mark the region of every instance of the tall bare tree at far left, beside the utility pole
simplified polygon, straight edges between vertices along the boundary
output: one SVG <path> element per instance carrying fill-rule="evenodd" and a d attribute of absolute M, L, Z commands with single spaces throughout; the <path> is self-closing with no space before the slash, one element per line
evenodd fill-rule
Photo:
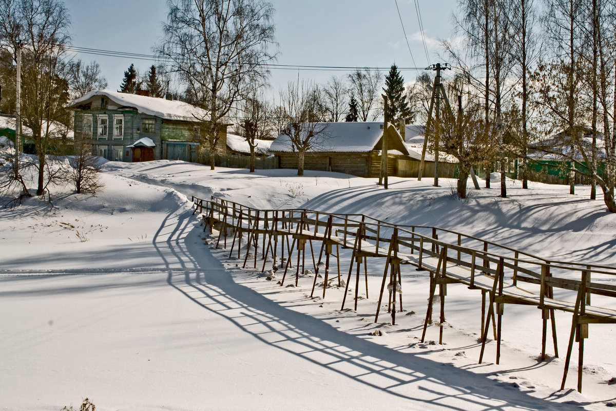
<path fill-rule="evenodd" d="M 50 154 L 66 141 L 69 123 L 65 110 L 68 100 L 67 46 L 70 17 L 57 0 L 1 0 L 0 41 L 17 60 L 22 49 L 22 120 L 31 129 L 38 161 L 36 195 L 43 195 L 58 176 L 58 168 L 48 163 Z M 23 187 L 25 189 L 25 187 Z"/>

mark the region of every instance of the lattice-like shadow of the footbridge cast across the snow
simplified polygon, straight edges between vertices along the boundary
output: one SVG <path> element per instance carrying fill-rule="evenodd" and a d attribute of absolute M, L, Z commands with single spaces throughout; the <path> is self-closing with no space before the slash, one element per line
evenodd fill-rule
<path fill-rule="evenodd" d="M 198 228 L 193 230 L 198 231 Z M 207 266 L 203 268 L 214 268 L 213 256 L 190 237 L 193 236 L 186 237 L 182 253 L 191 255 L 196 264 L 203 260 Z M 415 402 L 417 407 L 578 409 L 574 405 L 529 396 L 487 375 L 439 364 L 341 332 L 322 320 L 283 307 L 236 283 L 220 262 L 216 265 L 220 272 L 198 269 L 169 272 L 168 283 L 195 304 L 221 315 L 265 344 L 371 388 Z"/>

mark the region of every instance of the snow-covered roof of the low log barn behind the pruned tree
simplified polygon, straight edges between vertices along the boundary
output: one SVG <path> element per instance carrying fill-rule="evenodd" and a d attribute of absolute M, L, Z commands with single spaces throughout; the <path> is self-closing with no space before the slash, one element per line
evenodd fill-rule
<path fill-rule="evenodd" d="M 383 123 L 380 122 L 343 122 L 343 123 L 312 123 L 317 129 L 323 129 L 319 144 L 312 152 L 342 152 L 366 153 L 375 150 L 383 137 Z M 390 124 L 390 130 L 395 130 Z M 399 150 L 407 154 L 407 148 L 402 143 L 402 137 L 395 131 L 389 133 L 390 141 L 394 142 L 390 150 Z M 391 144 L 391 143 L 390 143 Z M 380 147 L 378 147 L 380 149 Z M 272 142 L 274 152 L 292 152 L 291 140 L 285 134 L 280 134 Z"/>

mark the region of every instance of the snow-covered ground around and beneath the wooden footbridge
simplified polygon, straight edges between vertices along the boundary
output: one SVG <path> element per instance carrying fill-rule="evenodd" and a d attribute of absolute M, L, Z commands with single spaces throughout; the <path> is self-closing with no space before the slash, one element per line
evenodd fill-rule
<path fill-rule="evenodd" d="M 449 286 L 444 345 L 419 343 L 425 272 L 403 268 L 397 325 L 381 311 L 382 262 L 369 298 L 339 311 L 344 288 L 310 298 L 314 277 L 280 287 L 213 248 L 190 195 L 259 208 L 306 207 L 434 225 L 550 259 L 616 262 L 616 216 L 588 187 L 510 181 L 463 203 L 455 182 L 247 170 L 181 161 L 105 165 L 96 197 L 55 189 L 0 210 L 0 409 L 59 410 L 89 397 L 97 410 L 603 409 L 616 398 L 613 325 L 591 325 L 583 394 L 577 369 L 559 391 L 570 315 L 556 317 L 561 358 L 538 362 L 541 315 L 506 306 L 500 365 L 480 344 L 480 293 Z M 241 264 L 240 264 L 241 266 Z M 349 255 L 343 253 L 346 273 Z M 351 284 L 355 287 L 354 283 Z M 365 288 L 360 283 L 360 295 Z M 349 301 L 347 299 L 347 301 Z M 352 302 L 352 301 L 351 301 Z M 405 314 L 405 315 L 403 315 Z M 370 335 L 375 330 L 382 336 Z M 551 350 L 551 351 L 550 351 Z M 553 348 L 548 345 L 548 352 Z M 609 354 L 606 354 L 609 353 Z M 573 350 L 577 364 L 577 351 Z M 611 382 L 610 382 L 611 381 Z"/>

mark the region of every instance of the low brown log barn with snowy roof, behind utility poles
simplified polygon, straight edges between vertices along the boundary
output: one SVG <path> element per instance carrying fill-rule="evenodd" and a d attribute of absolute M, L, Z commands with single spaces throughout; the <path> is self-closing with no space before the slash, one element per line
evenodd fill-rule
<path fill-rule="evenodd" d="M 358 177 L 378 177 L 381 170 L 383 123 L 318 123 L 320 141 L 304 157 L 304 169 L 333 171 Z M 388 175 L 397 176 L 397 159 L 409 152 L 395 129 L 387 132 Z M 270 147 L 279 168 L 298 168 L 298 153 L 280 134 Z"/>

